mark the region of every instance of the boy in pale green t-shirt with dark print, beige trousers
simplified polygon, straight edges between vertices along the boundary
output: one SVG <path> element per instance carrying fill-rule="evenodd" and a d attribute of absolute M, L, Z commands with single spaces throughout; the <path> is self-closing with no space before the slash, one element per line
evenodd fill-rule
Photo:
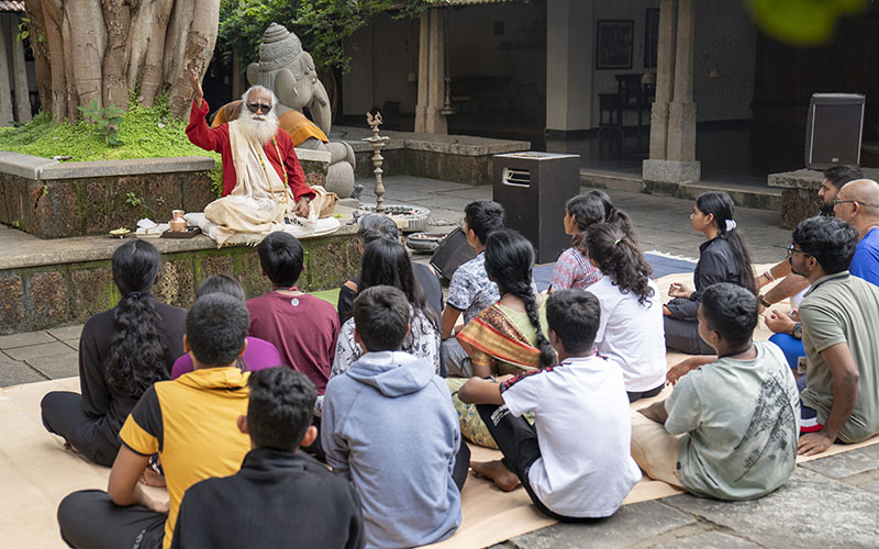
<path fill-rule="evenodd" d="M 757 299 L 721 282 L 699 307 L 699 335 L 717 351 L 671 395 L 632 413 L 632 456 L 647 475 L 701 495 L 750 500 L 797 464 L 800 399 L 785 355 L 752 341 Z"/>

